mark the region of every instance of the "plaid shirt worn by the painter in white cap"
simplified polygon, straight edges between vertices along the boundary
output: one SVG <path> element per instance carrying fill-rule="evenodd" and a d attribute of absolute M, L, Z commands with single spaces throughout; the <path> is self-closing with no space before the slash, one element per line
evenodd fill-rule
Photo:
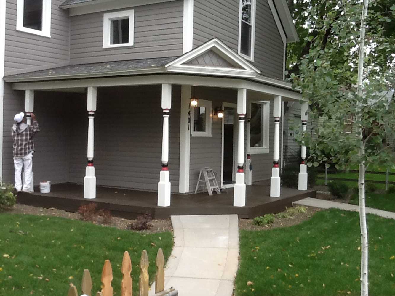
<path fill-rule="evenodd" d="M 25 155 L 28 155 L 30 152 L 34 152 L 33 136 L 35 133 L 40 131 L 40 128 L 38 127 L 38 122 L 33 121 L 32 126 L 28 126 L 20 133 L 17 133 L 14 130 L 15 126 L 17 125 L 14 124 L 14 126 L 11 129 L 11 136 L 12 139 L 14 140 L 14 150 L 13 150 L 14 157 L 23 157 Z"/>

